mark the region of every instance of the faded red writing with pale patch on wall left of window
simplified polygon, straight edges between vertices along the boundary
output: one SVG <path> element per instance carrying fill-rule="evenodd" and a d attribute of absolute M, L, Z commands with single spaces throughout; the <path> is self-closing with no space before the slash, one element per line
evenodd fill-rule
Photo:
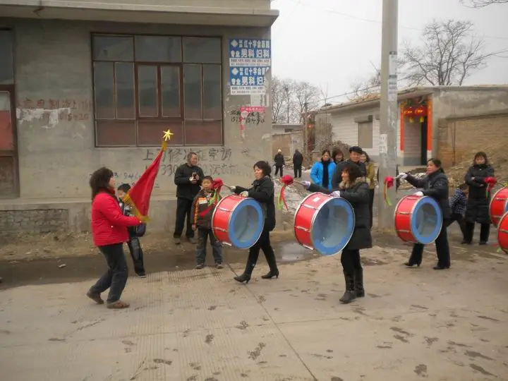
<path fill-rule="evenodd" d="M 88 121 L 92 119 L 92 105 L 88 100 L 79 99 L 25 99 L 18 100 L 16 118 L 20 122 L 37 120 L 41 128 L 54 128 L 67 121 Z"/>

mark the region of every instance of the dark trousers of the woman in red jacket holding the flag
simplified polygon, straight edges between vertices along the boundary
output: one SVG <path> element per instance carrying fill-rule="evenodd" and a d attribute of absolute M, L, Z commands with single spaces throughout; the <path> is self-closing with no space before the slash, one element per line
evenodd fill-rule
<path fill-rule="evenodd" d="M 123 243 L 99 246 L 99 250 L 104 255 L 104 258 L 106 258 L 108 270 L 90 290 L 101 294 L 109 289 L 107 303 L 114 303 L 119 301 L 128 277 L 127 262 L 123 254 Z"/>

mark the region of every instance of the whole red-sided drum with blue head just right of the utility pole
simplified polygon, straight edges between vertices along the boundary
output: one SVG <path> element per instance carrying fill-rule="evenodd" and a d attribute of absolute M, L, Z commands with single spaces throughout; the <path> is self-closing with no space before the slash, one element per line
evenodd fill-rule
<path fill-rule="evenodd" d="M 443 224 L 442 210 L 431 197 L 406 195 L 395 207 L 395 230 L 404 242 L 433 243 Z"/>

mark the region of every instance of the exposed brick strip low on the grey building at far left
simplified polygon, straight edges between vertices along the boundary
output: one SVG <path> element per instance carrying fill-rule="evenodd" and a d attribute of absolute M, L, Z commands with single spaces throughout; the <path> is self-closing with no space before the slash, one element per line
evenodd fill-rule
<path fill-rule="evenodd" d="M 68 210 L 1 210 L 0 231 L 7 234 L 68 231 Z"/>

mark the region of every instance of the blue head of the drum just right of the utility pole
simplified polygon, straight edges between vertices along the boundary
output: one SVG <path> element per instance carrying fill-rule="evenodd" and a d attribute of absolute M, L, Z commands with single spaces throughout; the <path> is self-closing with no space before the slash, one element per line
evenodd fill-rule
<path fill-rule="evenodd" d="M 418 243 L 428 245 L 439 236 L 442 227 L 442 211 L 431 197 L 419 200 L 411 214 L 411 233 Z"/>

